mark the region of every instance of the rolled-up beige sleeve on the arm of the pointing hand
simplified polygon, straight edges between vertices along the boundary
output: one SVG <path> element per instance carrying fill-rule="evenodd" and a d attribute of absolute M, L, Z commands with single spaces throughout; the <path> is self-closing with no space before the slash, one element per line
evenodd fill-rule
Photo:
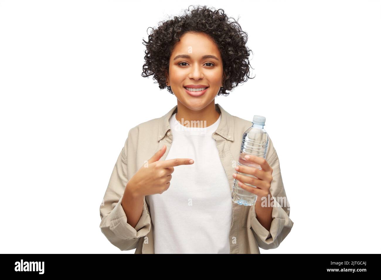
<path fill-rule="evenodd" d="M 130 137 L 129 132 L 129 137 Z M 122 197 L 128 181 L 127 151 L 128 138 L 120 152 L 102 204 L 99 208 L 101 223 L 99 227 L 110 243 L 121 251 L 135 249 L 139 238 L 146 236 L 151 229 L 151 219 L 144 200 L 142 215 L 135 227 L 127 222 L 127 216 L 122 207 Z"/>

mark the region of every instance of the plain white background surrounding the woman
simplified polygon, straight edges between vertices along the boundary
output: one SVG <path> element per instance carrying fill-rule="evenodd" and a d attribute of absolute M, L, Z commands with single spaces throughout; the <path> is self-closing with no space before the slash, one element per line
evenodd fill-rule
<path fill-rule="evenodd" d="M 261 253 L 380 253 L 380 1 L 0 1 L 2 253 L 120 251 L 99 206 L 128 131 L 177 104 L 141 77 L 149 27 L 189 5 L 248 32 L 252 75 L 215 103 L 265 129 L 290 234 Z"/>

